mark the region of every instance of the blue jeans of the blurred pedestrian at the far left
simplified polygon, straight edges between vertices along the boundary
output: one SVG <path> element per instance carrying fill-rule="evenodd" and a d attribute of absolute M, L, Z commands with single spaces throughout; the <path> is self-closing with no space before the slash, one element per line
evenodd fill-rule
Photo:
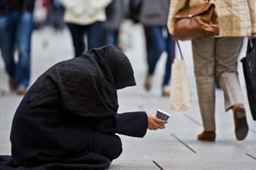
<path fill-rule="evenodd" d="M 0 49 L 5 70 L 15 79 L 15 87 L 28 87 L 30 81 L 30 44 L 34 27 L 33 14 L 13 11 L 0 15 Z M 18 61 L 14 60 L 14 46 L 18 48 Z"/>

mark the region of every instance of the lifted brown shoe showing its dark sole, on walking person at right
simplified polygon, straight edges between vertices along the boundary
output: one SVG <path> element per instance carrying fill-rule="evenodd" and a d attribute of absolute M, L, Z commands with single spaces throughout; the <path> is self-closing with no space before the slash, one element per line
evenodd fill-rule
<path fill-rule="evenodd" d="M 237 103 L 232 106 L 232 111 L 235 123 L 235 137 L 237 140 L 244 140 L 248 134 L 245 107 L 242 103 Z"/>

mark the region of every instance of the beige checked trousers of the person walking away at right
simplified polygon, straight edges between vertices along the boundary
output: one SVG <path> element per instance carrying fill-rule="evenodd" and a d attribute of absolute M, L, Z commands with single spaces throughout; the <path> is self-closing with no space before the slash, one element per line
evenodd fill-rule
<path fill-rule="evenodd" d="M 204 131 L 215 131 L 215 80 L 224 92 L 225 108 L 244 103 L 238 80 L 238 54 L 243 37 L 192 40 L 194 74 Z"/>

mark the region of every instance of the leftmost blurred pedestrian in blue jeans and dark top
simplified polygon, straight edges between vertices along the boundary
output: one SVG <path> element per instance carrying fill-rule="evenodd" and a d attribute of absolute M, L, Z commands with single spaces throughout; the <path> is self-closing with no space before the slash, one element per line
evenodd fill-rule
<path fill-rule="evenodd" d="M 0 0 L 0 49 L 10 90 L 24 94 L 30 83 L 30 49 L 35 0 Z M 18 61 L 14 59 L 18 51 Z"/>

